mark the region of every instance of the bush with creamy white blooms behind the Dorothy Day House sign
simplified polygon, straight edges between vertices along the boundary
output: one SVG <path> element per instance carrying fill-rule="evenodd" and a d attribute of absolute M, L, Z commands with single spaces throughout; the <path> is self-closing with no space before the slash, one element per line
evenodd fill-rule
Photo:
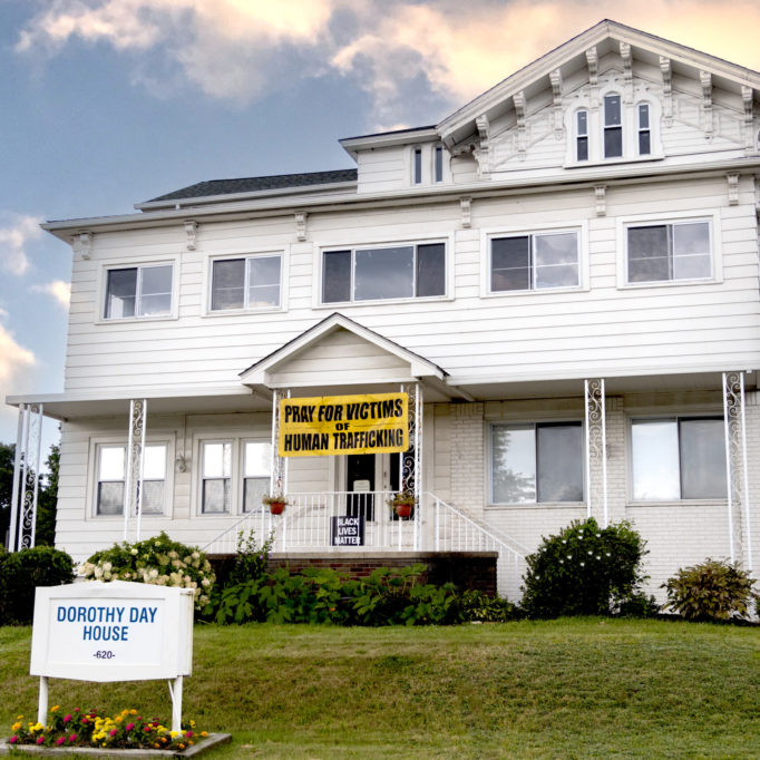
<path fill-rule="evenodd" d="M 206 555 L 195 546 L 172 540 L 165 533 L 96 552 L 79 566 L 89 581 L 131 581 L 156 586 L 192 588 L 195 606 L 203 610 L 216 579 Z"/>

